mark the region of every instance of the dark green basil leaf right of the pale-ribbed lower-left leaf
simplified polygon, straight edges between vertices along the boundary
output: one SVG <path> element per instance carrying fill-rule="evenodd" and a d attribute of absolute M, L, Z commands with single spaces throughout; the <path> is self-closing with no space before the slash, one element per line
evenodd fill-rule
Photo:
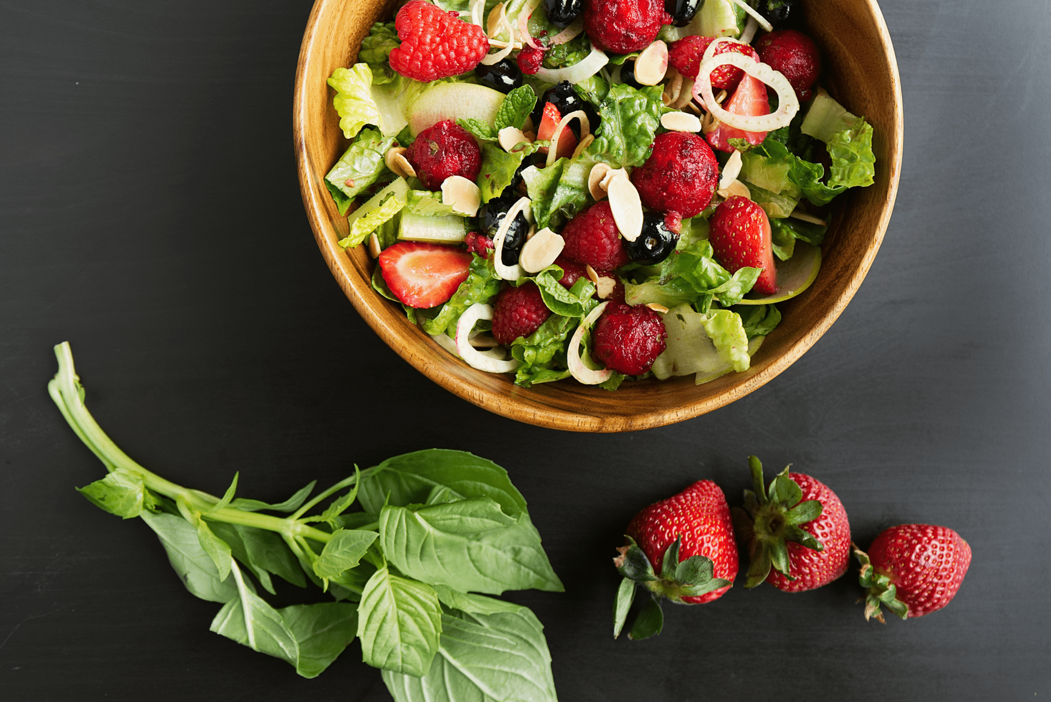
<path fill-rule="evenodd" d="M 295 604 L 277 613 L 298 644 L 295 671 L 304 678 L 316 678 L 324 673 L 357 634 L 354 604 Z"/>

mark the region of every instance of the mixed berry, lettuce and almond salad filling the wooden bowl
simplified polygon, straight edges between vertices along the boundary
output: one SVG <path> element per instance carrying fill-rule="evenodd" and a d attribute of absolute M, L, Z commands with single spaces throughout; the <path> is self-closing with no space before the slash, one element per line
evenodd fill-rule
<path fill-rule="evenodd" d="M 873 129 L 786 0 L 410 0 L 328 84 L 374 294 L 522 387 L 749 368 Z"/>

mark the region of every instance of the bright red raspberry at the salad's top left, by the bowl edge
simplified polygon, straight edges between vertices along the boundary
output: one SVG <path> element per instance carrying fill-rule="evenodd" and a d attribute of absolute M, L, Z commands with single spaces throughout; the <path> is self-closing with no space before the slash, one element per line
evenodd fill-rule
<path fill-rule="evenodd" d="M 401 7 L 394 27 L 401 45 L 391 52 L 391 67 L 425 83 L 472 71 L 489 53 L 489 39 L 480 26 L 427 0 L 412 0 Z"/>

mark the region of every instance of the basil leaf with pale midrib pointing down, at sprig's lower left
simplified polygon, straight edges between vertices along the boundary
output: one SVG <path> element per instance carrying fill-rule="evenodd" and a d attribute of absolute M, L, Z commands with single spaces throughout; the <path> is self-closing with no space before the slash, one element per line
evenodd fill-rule
<path fill-rule="evenodd" d="M 281 614 L 246 586 L 236 563 L 232 564 L 232 580 L 238 583 L 238 597 L 219 610 L 210 630 L 295 665 L 300 645 Z"/>

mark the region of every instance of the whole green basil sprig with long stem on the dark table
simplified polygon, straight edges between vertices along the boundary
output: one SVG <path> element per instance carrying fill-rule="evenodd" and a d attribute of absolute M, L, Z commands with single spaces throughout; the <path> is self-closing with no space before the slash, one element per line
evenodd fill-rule
<path fill-rule="evenodd" d="M 356 637 L 399 702 L 556 700 L 540 622 L 527 607 L 478 595 L 563 589 L 507 470 L 431 449 L 355 466 L 312 498 L 313 482 L 280 504 L 235 498 L 236 475 L 217 498 L 122 452 L 84 406 L 69 344 L 55 352 L 50 396 L 109 472 L 80 493 L 157 533 L 186 588 L 223 604 L 212 631 L 306 678 Z M 355 502 L 362 510 L 349 512 Z M 335 601 L 274 608 L 259 591 L 275 594 L 272 576 L 310 581 Z"/>

